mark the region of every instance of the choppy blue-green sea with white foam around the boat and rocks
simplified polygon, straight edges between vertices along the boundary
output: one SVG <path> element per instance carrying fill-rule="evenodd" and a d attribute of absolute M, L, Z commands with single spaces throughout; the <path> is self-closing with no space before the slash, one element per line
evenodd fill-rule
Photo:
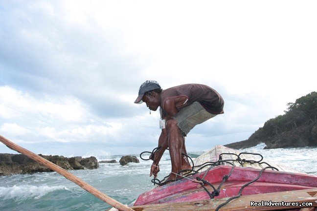
<path fill-rule="evenodd" d="M 317 175 L 317 148 L 263 149 L 264 144 L 241 149 L 244 152 L 260 153 L 264 159 L 283 164 L 309 174 Z M 204 151 L 188 153 L 192 158 Z M 131 204 L 139 194 L 151 190 L 151 161 L 127 166 L 99 164 L 98 169 L 70 170 L 72 174 L 104 192 L 122 204 Z M 122 155 L 95 155 L 98 161 L 119 161 Z M 170 157 L 166 152 L 160 161 L 158 179 L 171 170 Z M 86 190 L 70 182 L 56 172 L 0 176 L 0 211 L 105 211 L 108 204 Z"/>

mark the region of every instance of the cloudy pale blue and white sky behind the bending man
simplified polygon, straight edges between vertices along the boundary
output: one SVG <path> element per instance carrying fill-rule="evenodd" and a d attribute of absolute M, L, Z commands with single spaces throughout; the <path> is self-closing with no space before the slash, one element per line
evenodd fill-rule
<path fill-rule="evenodd" d="M 187 151 L 246 140 L 317 91 L 316 10 L 309 0 L 0 0 L 0 134 L 42 154 L 152 150 L 158 111 L 133 102 L 156 80 L 225 99 Z"/>

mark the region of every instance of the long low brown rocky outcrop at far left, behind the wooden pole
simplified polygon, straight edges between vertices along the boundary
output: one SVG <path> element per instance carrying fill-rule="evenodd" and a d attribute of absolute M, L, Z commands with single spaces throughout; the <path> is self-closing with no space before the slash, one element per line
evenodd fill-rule
<path fill-rule="evenodd" d="M 46 160 L 62 167 L 66 170 L 76 169 L 97 169 L 98 161 L 95 157 L 82 158 L 71 157 L 67 158 L 58 155 L 42 155 Z M 25 174 L 35 172 L 49 172 L 51 169 L 46 168 L 32 159 L 22 154 L 0 154 L 0 176 L 12 174 Z"/>

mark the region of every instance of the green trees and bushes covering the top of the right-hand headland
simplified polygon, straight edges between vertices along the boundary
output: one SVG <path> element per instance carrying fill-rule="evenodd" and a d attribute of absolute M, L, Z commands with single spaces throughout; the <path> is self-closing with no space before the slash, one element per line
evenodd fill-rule
<path fill-rule="evenodd" d="M 311 92 L 300 97 L 295 103 L 288 103 L 287 106 L 287 110 L 284 111 L 285 114 L 268 120 L 252 136 L 272 137 L 302 125 L 308 126 L 317 121 L 317 92 Z"/>

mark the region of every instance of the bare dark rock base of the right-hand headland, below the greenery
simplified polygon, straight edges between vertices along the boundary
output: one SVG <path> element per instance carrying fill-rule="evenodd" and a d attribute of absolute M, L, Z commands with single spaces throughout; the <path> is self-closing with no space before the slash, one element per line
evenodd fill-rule
<path fill-rule="evenodd" d="M 317 122 L 308 126 L 295 127 L 292 130 L 271 137 L 264 137 L 259 130 L 255 131 L 249 139 L 225 145 L 228 148 L 243 149 L 255 147 L 265 143 L 270 148 L 296 148 L 317 146 Z"/>

